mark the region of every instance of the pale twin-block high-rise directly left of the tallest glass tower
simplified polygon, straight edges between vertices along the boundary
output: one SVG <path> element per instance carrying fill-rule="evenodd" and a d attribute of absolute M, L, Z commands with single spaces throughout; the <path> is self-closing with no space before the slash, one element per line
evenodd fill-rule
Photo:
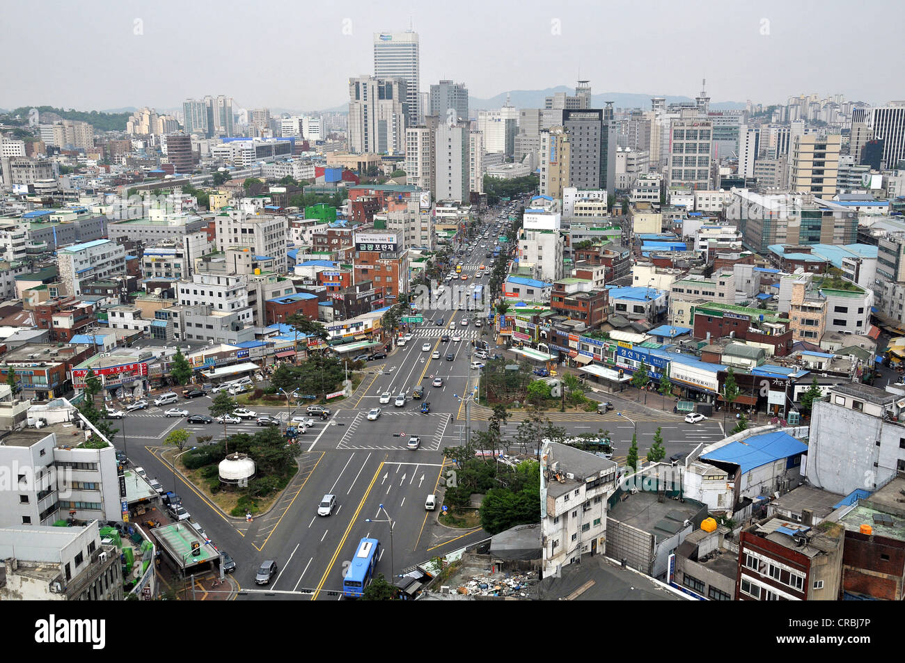
<path fill-rule="evenodd" d="M 408 113 L 401 79 L 348 81 L 348 148 L 356 154 L 402 154 Z"/>

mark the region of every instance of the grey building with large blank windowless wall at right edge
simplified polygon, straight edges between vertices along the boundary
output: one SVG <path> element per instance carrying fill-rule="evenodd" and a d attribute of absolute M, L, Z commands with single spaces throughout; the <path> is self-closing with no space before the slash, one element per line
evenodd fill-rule
<path fill-rule="evenodd" d="M 815 488 L 847 495 L 874 490 L 905 471 L 900 396 L 866 384 L 838 384 L 811 415 L 806 476 Z"/>

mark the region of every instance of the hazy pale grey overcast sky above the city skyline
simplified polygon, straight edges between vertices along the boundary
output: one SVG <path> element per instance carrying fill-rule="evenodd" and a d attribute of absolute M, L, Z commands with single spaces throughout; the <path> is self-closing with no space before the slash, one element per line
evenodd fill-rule
<path fill-rule="evenodd" d="M 556 5 L 556 6 L 553 6 Z M 574 86 L 597 92 L 785 102 L 842 93 L 905 99 L 905 3 L 875 0 L 3 0 L 0 108 L 235 106 L 326 109 L 373 73 L 373 33 L 421 39 L 421 90 L 473 97 Z M 233 107 L 235 108 L 235 107 Z"/>

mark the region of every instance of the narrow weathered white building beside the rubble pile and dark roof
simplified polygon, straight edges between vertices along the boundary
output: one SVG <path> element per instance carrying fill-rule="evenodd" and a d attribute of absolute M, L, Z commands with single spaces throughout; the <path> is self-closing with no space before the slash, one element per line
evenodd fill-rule
<path fill-rule="evenodd" d="M 616 485 L 617 463 L 566 444 L 540 451 L 540 526 L 544 575 L 605 551 L 607 497 Z"/>

